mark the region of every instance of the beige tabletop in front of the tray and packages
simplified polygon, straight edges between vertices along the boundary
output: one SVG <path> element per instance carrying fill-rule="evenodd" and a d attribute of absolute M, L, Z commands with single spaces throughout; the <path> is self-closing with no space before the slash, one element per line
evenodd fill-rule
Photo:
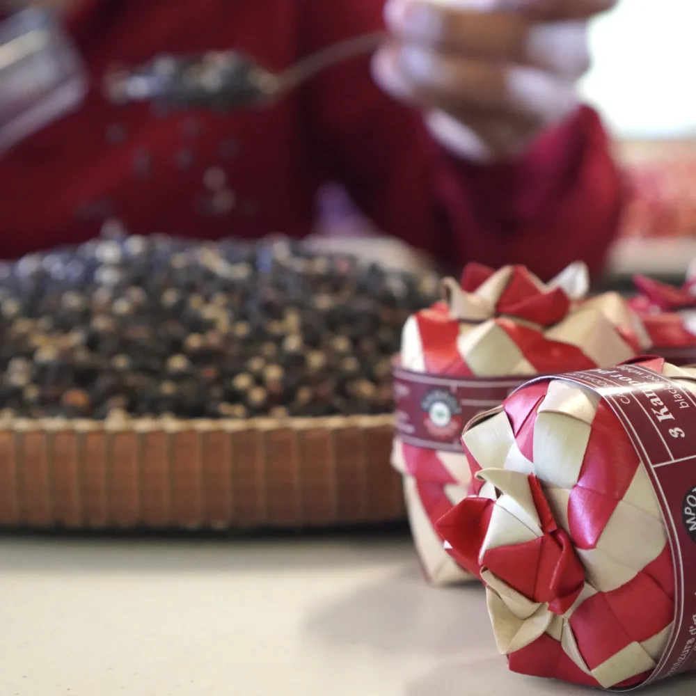
<path fill-rule="evenodd" d="M 0 696 L 590 693 L 509 674 L 480 588 L 426 587 L 405 537 L 0 537 Z"/>

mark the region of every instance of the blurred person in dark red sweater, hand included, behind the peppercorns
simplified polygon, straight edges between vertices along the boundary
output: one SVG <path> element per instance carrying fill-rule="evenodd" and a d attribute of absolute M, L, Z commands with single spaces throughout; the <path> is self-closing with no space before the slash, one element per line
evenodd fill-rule
<path fill-rule="evenodd" d="M 613 1 L 0 1 L 60 10 L 90 74 L 79 109 L 0 154 L 0 256 L 82 242 L 112 218 L 139 234 L 302 237 L 317 190 L 339 181 L 379 229 L 452 267 L 596 270 L 622 182 L 575 86 L 587 21 Z M 161 113 L 101 90 L 160 52 L 235 48 L 280 70 L 385 22 L 371 63 L 264 111 Z"/>

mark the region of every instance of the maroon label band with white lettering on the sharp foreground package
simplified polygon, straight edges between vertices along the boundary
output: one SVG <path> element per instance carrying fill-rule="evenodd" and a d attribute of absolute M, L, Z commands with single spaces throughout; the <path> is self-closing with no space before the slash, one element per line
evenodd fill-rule
<path fill-rule="evenodd" d="M 665 517 L 676 578 L 674 627 L 661 661 L 640 686 L 695 670 L 696 400 L 679 383 L 640 365 L 571 372 L 560 379 L 589 387 L 611 406 L 650 475 Z"/>

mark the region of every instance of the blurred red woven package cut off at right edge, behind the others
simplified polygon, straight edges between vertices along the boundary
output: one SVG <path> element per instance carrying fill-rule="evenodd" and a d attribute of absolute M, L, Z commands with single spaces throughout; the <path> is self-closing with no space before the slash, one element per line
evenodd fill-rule
<path fill-rule="evenodd" d="M 640 294 L 630 304 L 650 337 L 650 353 L 674 365 L 696 364 L 696 267 L 683 287 L 646 276 L 635 276 L 634 283 Z"/>

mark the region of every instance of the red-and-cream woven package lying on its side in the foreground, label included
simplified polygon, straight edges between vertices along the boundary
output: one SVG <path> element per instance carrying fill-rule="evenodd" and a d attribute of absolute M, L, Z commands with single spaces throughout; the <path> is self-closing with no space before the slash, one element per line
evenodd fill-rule
<path fill-rule="evenodd" d="M 696 668 L 696 369 L 539 378 L 473 420 L 438 521 L 514 672 L 632 688 Z"/>

